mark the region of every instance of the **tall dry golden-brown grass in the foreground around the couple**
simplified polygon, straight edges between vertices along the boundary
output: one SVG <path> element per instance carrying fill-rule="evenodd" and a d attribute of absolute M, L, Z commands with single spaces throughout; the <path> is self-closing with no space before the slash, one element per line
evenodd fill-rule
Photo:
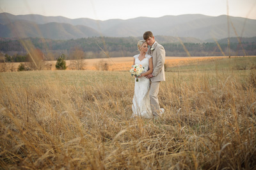
<path fill-rule="evenodd" d="M 255 168 L 255 70 L 188 70 L 166 72 L 158 120 L 131 118 L 128 71 L 1 73 L 0 166 Z"/>

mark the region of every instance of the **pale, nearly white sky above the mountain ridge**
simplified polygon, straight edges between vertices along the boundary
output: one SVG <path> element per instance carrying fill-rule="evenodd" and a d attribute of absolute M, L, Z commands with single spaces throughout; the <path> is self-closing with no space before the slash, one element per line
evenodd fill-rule
<path fill-rule="evenodd" d="M 228 5 L 227 5 L 228 4 Z M 228 8 L 227 8 L 228 7 Z M 227 10 L 228 9 L 228 10 Z M 163 17 L 164 15 L 227 15 L 256 19 L 255 0 L 0 0 L 0 13 L 39 14 L 96 20 Z"/>

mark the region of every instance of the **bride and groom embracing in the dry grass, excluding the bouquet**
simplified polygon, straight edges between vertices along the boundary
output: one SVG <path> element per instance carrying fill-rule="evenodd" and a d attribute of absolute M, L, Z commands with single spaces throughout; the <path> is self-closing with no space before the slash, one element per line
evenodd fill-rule
<path fill-rule="evenodd" d="M 159 106 L 158 92 L 160 82 L 165 81 L 165 50 L 156 42 L 151 31 L 145 32 L 143 39 L 137 45 L 140 54 L 135 55 L 133 61 L 133 65 L 141 65 L 144 70 L 135 81 L 132 116 L 158 118 L 164 112 Z"/>

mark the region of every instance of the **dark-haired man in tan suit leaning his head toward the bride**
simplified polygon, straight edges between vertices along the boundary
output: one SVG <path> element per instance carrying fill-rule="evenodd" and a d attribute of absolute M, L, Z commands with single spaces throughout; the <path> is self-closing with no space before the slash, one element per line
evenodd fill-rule
<path fill-rule="evenodd" d="M 150 45 L 150 48 L 147 51 L 147 54 L 152 56 L 153 60 L 153 72 L 146 77 L 150 79 L 150 104 L 152 109 L 152 114 L 154 118 L 161 116 L 164 112 L 163 108 L 159 106 L 158 92 L 161 81 L 165 81 L 164 74 L 164 61 L 165 61 L 165 50 L 162 45 L 156 42 L 155 37 L 151 31 L 147 31 L 143 35 L 144 40 Z"/>

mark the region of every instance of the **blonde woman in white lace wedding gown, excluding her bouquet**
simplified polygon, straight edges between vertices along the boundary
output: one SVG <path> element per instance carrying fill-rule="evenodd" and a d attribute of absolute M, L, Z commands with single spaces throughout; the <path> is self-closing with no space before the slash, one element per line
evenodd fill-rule
<path fill-rule="evenodd" d="M 140 54 L 133 56 L 133 65 L 142 65 L 144 67 L 144 71 L 141 73 L 139 81 L 135 81 L 134 97 L 132 99 L 132 116 L 152 118 L 149 100 L 150 80 L 145 77 L 153 72 L 152 56 L 146 54 L 148 44 L 145 40 L 140 40 L 137 47 Z"/>

